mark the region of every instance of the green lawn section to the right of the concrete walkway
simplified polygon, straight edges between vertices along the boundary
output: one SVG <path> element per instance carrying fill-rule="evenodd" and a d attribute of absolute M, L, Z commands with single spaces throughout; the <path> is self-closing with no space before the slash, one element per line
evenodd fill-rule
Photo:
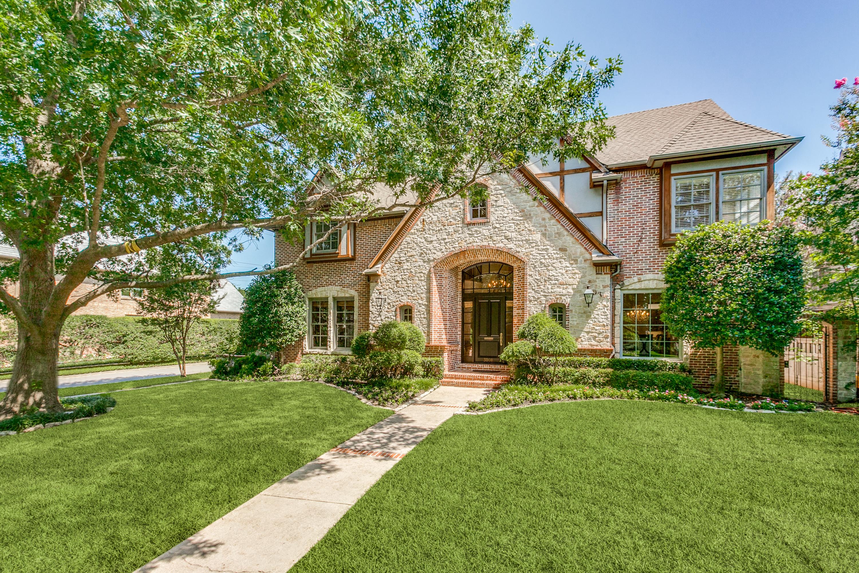
<path fill-rule="evenodd" d="M 454 416 L 289 573 L 855 571 L 859 417 L 594 400 Z"/>

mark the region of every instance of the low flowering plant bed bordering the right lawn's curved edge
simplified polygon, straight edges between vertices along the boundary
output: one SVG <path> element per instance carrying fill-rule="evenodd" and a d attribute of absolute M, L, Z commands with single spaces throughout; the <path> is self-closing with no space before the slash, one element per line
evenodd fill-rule
<path fill-rule="evenodd" d="M 637 390 L 583 385 L 523 386 L 509 384 L 497 392 L 490 393 L 484 399 L 469 402 L 468 411 L 490 411 L 520 405 L 583 399 L 637 399 L 702 405 L 734 411 L 742 411 L 746 408 L 754 410 L 812 411 L 815 406 L 810 402 L 796 402 L 795 400 L 775 401 L 770 399 L 758 400 L 751 405 L 746 405 L 745 402 L 733 397 L 712 399 L 696 395 L 695 393 L 678 392 L 675 390 Z"/>

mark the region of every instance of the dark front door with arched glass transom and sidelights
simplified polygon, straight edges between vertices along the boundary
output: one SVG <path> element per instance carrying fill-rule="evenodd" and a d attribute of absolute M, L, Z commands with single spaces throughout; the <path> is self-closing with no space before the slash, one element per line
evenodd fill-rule
<path fill-rule="evenodd" d="M 486 262 L 462 271 L 462 362 L 498 363 L 513 339 L 513 267 Z"/>

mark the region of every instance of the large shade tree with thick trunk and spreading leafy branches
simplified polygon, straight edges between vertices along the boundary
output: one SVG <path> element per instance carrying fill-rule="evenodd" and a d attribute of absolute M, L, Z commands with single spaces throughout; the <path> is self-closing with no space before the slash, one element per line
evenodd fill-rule
<path fill-rule="evenodd" d="M 0 302 L 20 335 L 4 416 L 60 408 L 60 328 L 96 297 L 295 265 L 219 273 L 229 231 L 297 241 L 381 210 L 379 183 L 393 209 L 431 204 L 612 136 L 597 97 L 619 59 L 511 29 L 507 0 L 5 5 L 0 234 L 20 261 Z M 146 253 L 168 246 L 207 265 L 153 277 Z"/>

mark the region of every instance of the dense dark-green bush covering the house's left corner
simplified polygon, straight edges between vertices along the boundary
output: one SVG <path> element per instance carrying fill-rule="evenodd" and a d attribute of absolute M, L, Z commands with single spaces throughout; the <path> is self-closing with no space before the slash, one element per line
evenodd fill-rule
<path fill-rule="evenodd" d="M 292 272 L 254 278 L 239 318 L 239 350 L 275 352 L 293 344 L 307 332 L 307 313 L 302 285 Z"/>

